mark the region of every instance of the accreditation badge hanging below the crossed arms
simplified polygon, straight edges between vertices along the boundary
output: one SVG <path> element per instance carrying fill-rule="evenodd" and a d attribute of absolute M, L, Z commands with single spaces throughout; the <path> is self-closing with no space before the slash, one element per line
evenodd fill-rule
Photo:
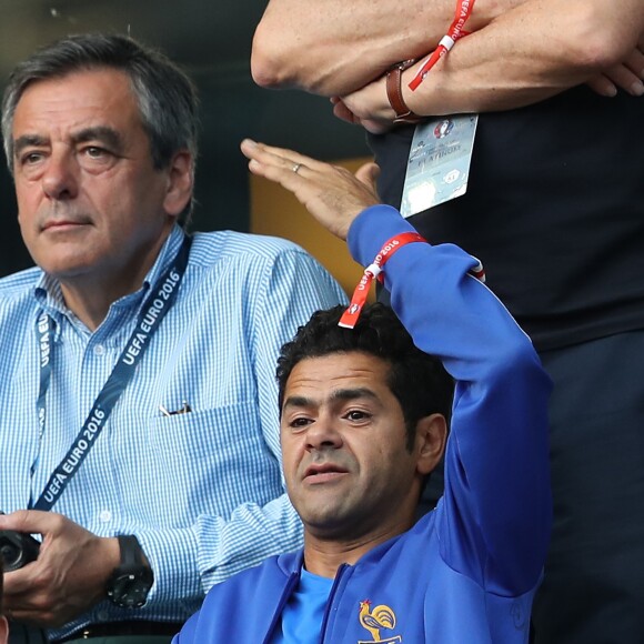
<path fill-rule="evenodd" d="M 401 213 L 412 217 L 467 190 L 479 114 L 453 114 L 416 125 Z"/>

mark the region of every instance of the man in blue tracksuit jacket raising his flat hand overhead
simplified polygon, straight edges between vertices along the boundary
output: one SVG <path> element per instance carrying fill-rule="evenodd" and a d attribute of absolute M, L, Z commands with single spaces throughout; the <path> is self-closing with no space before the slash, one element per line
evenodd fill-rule
<path fill-rule="evenodd" d="M 304 549 L 213 587 L 175 644 L 527 642 L 552 511 L 551 384 L 530 340 L 472 274 L 476 260 L 410 240 L 376 204 L 373 164 L 354 178 L 252 141 L 242 151 L 362 265 L 399 246 L 380 265 L 413 343 L 376 304 L 353 330 L 341 311 L 316 314 L 283 349 L 283 467 Z M 449 415 L 426 354 L 455 392 L 445 493 L 416 522 Z"/>

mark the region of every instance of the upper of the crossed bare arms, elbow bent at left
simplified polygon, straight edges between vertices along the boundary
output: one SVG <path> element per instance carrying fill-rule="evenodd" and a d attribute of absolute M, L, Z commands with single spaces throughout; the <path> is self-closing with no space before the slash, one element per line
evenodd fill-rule
<path fill-rule="evenodd" d="M 467 29 L 481 29 L 523 1 L 476 0 Z M 253 78 L 262 87 L 345 94 L 395 62 L 431 51 L 455 7 L 455 0 L 272 0 L 253 39 Z"/>

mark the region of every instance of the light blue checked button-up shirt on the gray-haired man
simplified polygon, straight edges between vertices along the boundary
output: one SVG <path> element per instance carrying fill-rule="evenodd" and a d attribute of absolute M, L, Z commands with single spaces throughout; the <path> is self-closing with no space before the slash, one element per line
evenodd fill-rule
<path fill-rule="evenodd" d="M 36 502 L 182 238 L 175 228 L 143 288 L 114 302 L 93 333 L 40 269 L 0 280 L 0 510 Z M 194 235 L 174 305 L 53 507 L 101 536 L 135 534 L 154 585 L 135 615 L 105 601 L 54 637 L 89 622 L 182 621 L 211 585 L 300 546 L 280 469 L 276 356 L 313 311 L 339 302 L 345 302 L 340 286 L 288 241 L 230 231 Z M 42 435 L 41 311 L 56 326 Z M 160 411 L 184 402 L 189 413 Z"/>

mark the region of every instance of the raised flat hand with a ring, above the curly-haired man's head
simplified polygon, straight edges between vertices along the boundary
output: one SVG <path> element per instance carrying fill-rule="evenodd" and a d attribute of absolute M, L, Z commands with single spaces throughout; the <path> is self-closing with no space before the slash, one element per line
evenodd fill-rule
<path fill-rule="evenodd" d="M 380 203 L 375 163 L 365 163 L 353 175 L 344 168 L 250 139 L 242 141 L 241 150 L 250 160 L 253 174 L 290 190 L 324 228 L 342 240 L 365 208 Z"/>

